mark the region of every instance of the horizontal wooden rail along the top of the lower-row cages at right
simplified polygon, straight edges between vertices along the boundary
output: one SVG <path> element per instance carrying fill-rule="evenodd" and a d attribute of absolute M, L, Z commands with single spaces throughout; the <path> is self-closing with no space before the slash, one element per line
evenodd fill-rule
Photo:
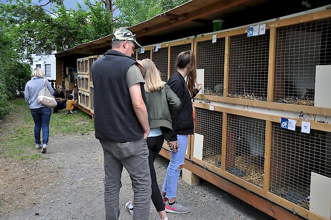
<path fill-rule="evenodd" d="M 194 102 L 193 105 L 195 107 L 209 109 L 209 105 L 207 105 L 207 104 Z M 264 113 L 251 112 L 251 111 L 247 111 L 247 110 L 234 109 L 234 108 L 222 107 L 222 106 L 217 106 L 217 105 L 214 105 L 214 111 L 226 112 L 226 113 L 230 113 L 230 114 L 234 114 L 234 115 L 240 115 L 240 116 L 245 116 L 245 117 L 250 117 L 250 118 L 267 120 L 267 121 L 272 121 L 272 122 L 277 122 L 277 123 L 280 123 L 281 119 L 282 119 L 281 116 L 277 116 L 277 115 L 269 115 L 269 114 L 264 114 Z M 302 120 L 298 120 L 296 118 L 289 118 L 289 119 L 297 120 L 296 126 L 301 127 Z M 311 121 L 311 129 L 331 132 L 331 124 Z"/>

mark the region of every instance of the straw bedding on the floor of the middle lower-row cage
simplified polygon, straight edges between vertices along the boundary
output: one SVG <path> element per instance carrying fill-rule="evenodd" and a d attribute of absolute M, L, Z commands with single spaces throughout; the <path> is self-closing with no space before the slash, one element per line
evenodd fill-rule
<path fill-rule="evenodd" d="M 253 155 L 237 156 L 235 159 L 235 167 L 244 172 L 244 175 L 241 176 L 242 179 L 263 187 L 264 172 L 256 163 L 252 162 L 254 160 Z"/>

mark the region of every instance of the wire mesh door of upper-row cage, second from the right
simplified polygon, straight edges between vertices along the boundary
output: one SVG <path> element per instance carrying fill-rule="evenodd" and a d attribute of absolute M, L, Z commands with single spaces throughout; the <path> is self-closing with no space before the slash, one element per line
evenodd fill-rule
<path fill-rule="evenodd" d="M 270 31 L 230 37 L 228 97 L 266 101 Z"/>

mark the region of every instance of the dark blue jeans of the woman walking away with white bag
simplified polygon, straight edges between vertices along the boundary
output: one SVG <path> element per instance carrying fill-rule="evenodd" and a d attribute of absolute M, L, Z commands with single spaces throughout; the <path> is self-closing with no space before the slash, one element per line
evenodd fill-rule
<path fill-rule="evenodd" d="M 49 119 L 52 113 L 49 107 L 41 107 L 30 109 L 32 118 L 35 122 L 35 140 L 36 144 L 41 144 L 40 142 L 40 130 L 43 129 L 43 144 L 48 143 L 49 136 Z"/>

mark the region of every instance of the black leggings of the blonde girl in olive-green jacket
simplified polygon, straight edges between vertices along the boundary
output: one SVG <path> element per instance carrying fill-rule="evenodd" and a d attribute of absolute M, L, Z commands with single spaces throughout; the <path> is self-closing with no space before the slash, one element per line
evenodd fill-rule
<path fill-rule="evenodd" d="M 164 210 L 164 204 L 156 180 L 154 160 L 158 156 L 158 153 L 160 152 L 162 145 L 163 145 L 163 135 L 147 138 L 147 146 L 149 149 L 148 162 L 149 162 L 149 169 L 151 171 L 151 180 L 152 180 L 152 202 L 156 208 L 156 211 L 158 212 Z"/>

